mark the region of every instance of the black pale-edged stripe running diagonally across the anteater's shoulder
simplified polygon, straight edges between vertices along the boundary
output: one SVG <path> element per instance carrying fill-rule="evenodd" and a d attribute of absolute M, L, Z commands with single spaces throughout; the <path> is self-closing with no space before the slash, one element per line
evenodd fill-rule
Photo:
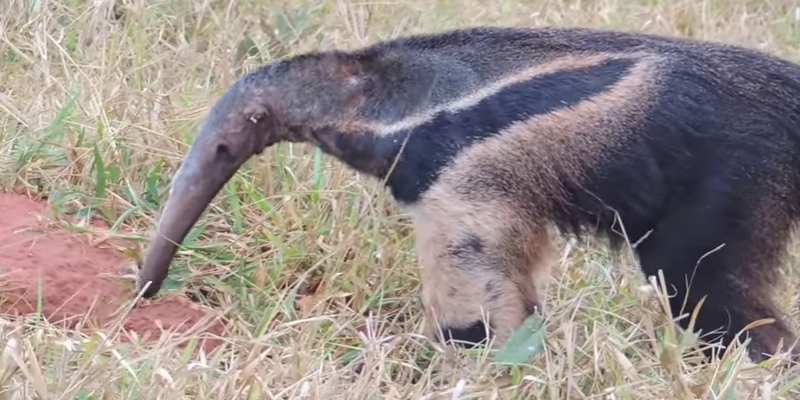
<path fill-rule="evenodd" d="M 386 178 L 402 149 L 387 185 L 397 201 L 411 204 L 462 150 L 501 134 L 514 123 L 602 93 L 622 79 L 635 62 L 609 59 L 586 68 L 540 75 L 509 85 L 472 107 L 442 111 L 428 122 L 392 135 L 326 132 L 320 139 L 328 137 L 320 142 L 323 150 L 351 167 L 381 179 Z"/>

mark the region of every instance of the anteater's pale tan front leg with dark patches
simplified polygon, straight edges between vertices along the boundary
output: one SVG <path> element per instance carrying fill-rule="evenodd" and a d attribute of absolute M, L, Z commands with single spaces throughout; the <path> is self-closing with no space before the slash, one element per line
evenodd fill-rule
<path fill-rule="evenodd" d="M 556 251 L 548 231 L 523 214 L 508 204 L 454 197 L 416 206 L 429 336 L 471 346 L 488 333 L 498 345 L 526 317 L 541 312 Z"/>

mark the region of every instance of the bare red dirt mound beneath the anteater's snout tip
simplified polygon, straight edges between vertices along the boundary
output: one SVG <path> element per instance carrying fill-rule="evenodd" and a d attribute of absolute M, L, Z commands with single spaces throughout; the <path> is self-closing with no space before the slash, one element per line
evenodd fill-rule
<path fill-rule="evenodd" d="M 111 246 L 93 245 L 89 235 L 54 228 L 46 213 L 43 201 L 0 192 L 0 314 L 34 313 L 41 293 L 43 316 L 51 323 L 111 327 L 134 296 L 132 282 L 114 279 L 130 274 L 124 270 L 128 260 Z M 184 296 L 168 296 L 140 302 L 122 328 L 157 340 L 160 329 L 197 333 L 193 327 L 205 314 Z M 215 323 L 207 332 L 221 335 L 222 326 Z M 209 338 L 203 346 L 218 344 Z"/>

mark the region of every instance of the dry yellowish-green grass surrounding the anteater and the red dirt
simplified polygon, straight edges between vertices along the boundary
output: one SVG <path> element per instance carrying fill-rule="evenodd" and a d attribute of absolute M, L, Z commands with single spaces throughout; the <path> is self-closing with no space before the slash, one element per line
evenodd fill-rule
<path fill-rule="evenodd" d="M 622 28 L 800 62 L 800 5 L 790 0 L 5 0 L 0 186 L 100 213 L 143 246 L 197 124 L 244 71 L 478 24 Z M 542 352 L 509 366 L 485 350 L 435 346 L 421 335 L 410 233 L 377 182 L 313 148 L 277 146 L 217 197 L 162 291 L 194 293 L 224 312 L 222 347 L 192 356 L 179 347 L 185 335 L 100 347 L 41 322 L 2 323 L 0 396 L 800 398 L 796 371 L 754 365 L 740 349 L 694 364 L 691 337 L 669 324 L 629 260 L 567 242 Z M 787 288 L 800 276 L 795 253 Z M 796 296 L 782 293 L 796 314 Z"/>

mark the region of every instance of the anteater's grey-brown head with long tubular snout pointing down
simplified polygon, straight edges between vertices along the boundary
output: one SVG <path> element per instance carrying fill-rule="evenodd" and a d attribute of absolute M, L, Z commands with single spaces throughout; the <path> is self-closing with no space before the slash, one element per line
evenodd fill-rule
<path fill-rule="evenodd" d="M 280 141 L 314 142 L 316 132 L 357 122 L 371 80 L 366 63 L 328 52 L 279 61 L 234 83 L 217 100 L 172 180 L 137 280 L 155 295 L 178 245 L 239 167 Z"/>

